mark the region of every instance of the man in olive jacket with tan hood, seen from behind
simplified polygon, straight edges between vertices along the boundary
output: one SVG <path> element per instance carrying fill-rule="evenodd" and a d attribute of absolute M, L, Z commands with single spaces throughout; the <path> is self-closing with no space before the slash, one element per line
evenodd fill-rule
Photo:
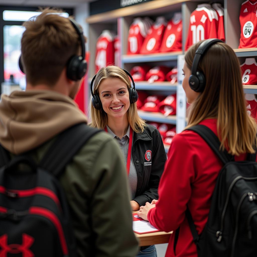
<path fill-rule="evenodd" d="M 11 156 L 33 149 L 38 163 L 60 132 L 87 123 L 73 101 L 85 73 L 78 57 L 84 40 L 73 22 L 59 14 L 45 9 L 24 23 L 21 61 L 26 91 L 2 95 L 0 103 L 0 144 Z M 60 182 L 78 256 L 136 255 L 126 168 L 111 136 L 92 136 L 66 166 Z"/>

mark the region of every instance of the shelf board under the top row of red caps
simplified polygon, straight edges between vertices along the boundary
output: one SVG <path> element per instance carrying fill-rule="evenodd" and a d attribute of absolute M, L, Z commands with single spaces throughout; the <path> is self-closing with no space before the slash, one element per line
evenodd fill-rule
<path fill-rule="evenodd" d="M 164 82 L 153 82 L 149 83 L 147 81 L 135 81 L 136 90 L 170 90 L 176 91 L 177 90 L 177 83 L 171 84 L 168 81 Z"/>

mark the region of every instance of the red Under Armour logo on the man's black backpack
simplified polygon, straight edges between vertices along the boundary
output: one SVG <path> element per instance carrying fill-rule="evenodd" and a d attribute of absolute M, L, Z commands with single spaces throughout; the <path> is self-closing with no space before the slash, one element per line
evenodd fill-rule
<path fill-rule="evenodd" d="M 22 244 L 7 244 L 8 235 L 0 237 L 0 257 L 7 257 L 7 253 L 22 253 L 22 257 L 34 257 L 34 253 L 29 249 L 34 242 L 34 238 L 25 233 L 22 234 Z"/>

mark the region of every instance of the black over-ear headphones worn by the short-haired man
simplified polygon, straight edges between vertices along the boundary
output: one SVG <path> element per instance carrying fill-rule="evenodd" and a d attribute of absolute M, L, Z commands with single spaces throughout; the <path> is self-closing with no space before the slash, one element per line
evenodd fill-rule
<path fill-rule="evenodd" d="M 85 47 L 85 40 L 84 40 L 84 35 L 81 27 L 73 19 L 69 19 L 69 20 L 79 35 L 79 40 L 81 43 L 81 56 L 73 55 L 68 60 L 66 65 L 67 78 L 73 81 L 77 81 L 77 80 L 80 80 L 86 74 L 86 71 L 87 71 L 87 62 L 85 60 L 86 47 Z M 20 70 L 25 74 L 24 69 L 22 67 L 21 56 L 19 58 L 19 67 L 20 67 Z"/>

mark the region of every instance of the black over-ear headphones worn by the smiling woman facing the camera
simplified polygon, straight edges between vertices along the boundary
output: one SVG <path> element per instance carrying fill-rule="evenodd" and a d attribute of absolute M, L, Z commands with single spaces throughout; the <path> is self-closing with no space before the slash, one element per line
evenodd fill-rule
<path fill-rule="evenodd" d="M 134 82 L 134 79 L 132 78 L 131 74 L 128 71 L 124 70 L 124 72 L 131 78 L 131 81 L 132 81 L 133 88 L 130 87 L 128 93 L 129 93 L 129 101 L 130 101 L 131 104 L 133 104 L 138 99 L 138 94 L 137 94 L 137 91 L 135 89 L 135 82 Z M 98 94 L 94 95 L 94 93 L 93 93 L 93 83 L 94 83 L 94 80 L 96 78 L 96 75 L 93 77 L 93 79 L 91 81 L 90 90 L 91 90 L 91 95 L 92 95 L 92 104 L 93 104 L 94 108 L 96 108 L 97 110 L 100 110 L 100 109 L 103 108 L 100 97 L 99 97 Z"/>

